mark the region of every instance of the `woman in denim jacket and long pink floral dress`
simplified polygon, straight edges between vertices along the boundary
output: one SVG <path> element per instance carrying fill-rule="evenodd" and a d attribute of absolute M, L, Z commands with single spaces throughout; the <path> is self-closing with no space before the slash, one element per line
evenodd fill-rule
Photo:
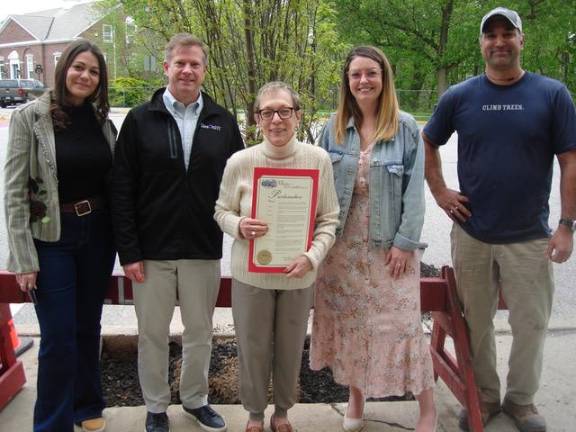
<path fill-rule="evenodd" d="M 349 386 L 344 430 L 364 427 L 366 398 L 410 392 L 420 406 L 416 431 L 434 431 L 432 361 L 420 324 L 424 149 L 377 48 L 348 55 L 320 146 L 332 159 L 340 225 L 316 284 L 311 367 L 328 366 Z"/>

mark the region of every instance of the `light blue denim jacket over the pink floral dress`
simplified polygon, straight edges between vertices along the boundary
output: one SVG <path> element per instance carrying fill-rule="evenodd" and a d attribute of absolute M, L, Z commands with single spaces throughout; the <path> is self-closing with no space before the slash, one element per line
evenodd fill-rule
<path fill-rule="evenodd" d="M 333 115 L 324 126 L 319 145 L 332 160 L 334 182 L 340 204 L 342 236 L 352 201 L 360 157 L 360 135 L 350 119 L 342 144 L 337 144 Z M 425 248 L 420 242 L 424 224 L 424 144 L 414 118 L 400 112 L 398 132 L 393 139 L 374 145 L 370 160 L 369 238 L 373 247 L 403 250 Z"/>

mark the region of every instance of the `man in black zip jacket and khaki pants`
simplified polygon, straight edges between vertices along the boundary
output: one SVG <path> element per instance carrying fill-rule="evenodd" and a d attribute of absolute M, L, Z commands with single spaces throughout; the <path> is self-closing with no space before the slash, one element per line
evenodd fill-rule
<path fill-rule="evenodd" d="M 118 139 L 112 211 L 120 262 L 134 282 L 146 431 L 169 430 L 168 335 L 180 303 L 184 411 L 226 430 L 208 404 L 212 314 L 222 233 L 213 219 L 227 159 L 244 148 L 235 119 L 201 92 L 207 49 L 189 34 L 166 46 L 168 87 L 130 110 Z"/>

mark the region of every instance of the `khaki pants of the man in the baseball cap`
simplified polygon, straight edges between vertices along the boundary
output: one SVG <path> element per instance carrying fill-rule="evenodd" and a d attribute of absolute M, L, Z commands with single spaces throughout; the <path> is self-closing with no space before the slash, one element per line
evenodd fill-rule
<path fill-rule="evenodd" d="M 531 404 L 540 383 L 554 292 L 552 265 L 546 256 L 548 239 L 488 244 L 454 224 L 451 240 L 458 296 L 470 331 L 472 366 L 481 398 L 500 401 L 492 320 L 501 290 L 513 336 L 506 398 L 520 405 Z"/>

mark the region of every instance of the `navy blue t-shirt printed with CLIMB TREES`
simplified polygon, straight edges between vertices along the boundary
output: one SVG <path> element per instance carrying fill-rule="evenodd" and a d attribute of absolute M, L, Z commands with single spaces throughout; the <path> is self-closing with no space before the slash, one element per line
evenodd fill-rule
<path fill-rule="evenodd" d="M 472 212 L 462 228 L 486 243 L 549 236 L 553 158 L 576 149 L 566 87 L 528 72 L 510 86 L 470 78 L 446 91 L 424 128 L 437 146 L 454 131 L 460 189 Z"/>

